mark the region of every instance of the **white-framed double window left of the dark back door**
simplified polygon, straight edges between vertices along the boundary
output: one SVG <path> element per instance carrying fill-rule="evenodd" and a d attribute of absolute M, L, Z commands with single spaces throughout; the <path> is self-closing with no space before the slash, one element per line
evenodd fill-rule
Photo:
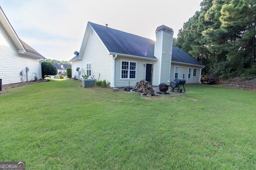
<path fill-rule="evenodd" d="M 121 79 L 136 79 L 136 62 L 121 62 Z"/>

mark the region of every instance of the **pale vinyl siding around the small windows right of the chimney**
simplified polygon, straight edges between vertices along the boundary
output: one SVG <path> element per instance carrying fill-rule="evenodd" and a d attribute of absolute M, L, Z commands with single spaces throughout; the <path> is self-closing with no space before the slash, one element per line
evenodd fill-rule
<path fill-rule="evenodd" d="M 178 79 L 183 79 L 183 74 L 184 74 L 184 78 L 186 80 L 186 83 L 199 83 L 199 73 L 197 72 L 196 76 L 193 77 L 191 74 L 191 79 L 188 79 L 188 68 L 191 68 L 191 66 L 189 65 L 183 65 L 183 64 L 172 64 L 171 67 L 171 79 L 170 81 L 174 80 L 174 74 L 175 74 L 175 66 L 179 67 L 179 75 L 178 75 Z M 195 69 L 200 70 L 201 67 L 195 67 Z"/>

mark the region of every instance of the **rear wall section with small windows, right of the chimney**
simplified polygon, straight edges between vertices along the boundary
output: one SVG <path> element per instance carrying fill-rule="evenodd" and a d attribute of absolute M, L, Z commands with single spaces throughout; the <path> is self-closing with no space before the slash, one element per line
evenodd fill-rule
<path fill-rule="evenodd" d="M 175 69 L 177 67 L 177 69 Z M 195 70 L 195 71 L 193 71 Z M 170 81 L 173 81 L 175 79 L 175 73 L 178 73 L 178 79 L 184 79 L 186 80 L 186 83 L 200 83 L 199 77 L 200 75 L 201 67 L 198 66 L 190 66 L 190 65 L 183 65 L 183 64 L 171 64 L 171 77 Z M 193 72 L 195 72 L 193 74 Z"/>

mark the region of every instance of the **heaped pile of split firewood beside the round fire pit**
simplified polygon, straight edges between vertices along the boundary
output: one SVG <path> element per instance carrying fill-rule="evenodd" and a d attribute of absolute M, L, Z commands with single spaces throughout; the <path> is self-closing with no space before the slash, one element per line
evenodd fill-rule
<path fill-rule="evenodd" d="M 145 80 L 137 82 L 132 91 L 139 92 L 140 94 L 147 96 L 155 96 L 155 91 L 153 90 L 152 85 Z"/>

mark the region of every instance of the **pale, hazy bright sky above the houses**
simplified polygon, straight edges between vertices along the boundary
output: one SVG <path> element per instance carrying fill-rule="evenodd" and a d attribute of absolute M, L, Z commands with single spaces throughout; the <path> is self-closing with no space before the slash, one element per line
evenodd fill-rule
<path fill-rule="evenodd" d="M 88 21 L 155 39 L 166 25 L 174 37 L 202 0 L 0 0 L 20 39 L 46 58 L 69 61 L 79 51 Z"/>

